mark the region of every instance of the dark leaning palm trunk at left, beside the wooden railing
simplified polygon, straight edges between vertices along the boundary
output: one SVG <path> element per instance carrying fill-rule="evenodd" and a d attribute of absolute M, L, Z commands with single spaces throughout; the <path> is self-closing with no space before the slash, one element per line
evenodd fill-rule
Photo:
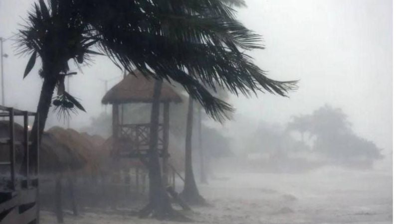
<path fill-rule="evenodd" d="M 37 105 L 36 112 L 39 113 L 39 119 L 37 119 L 37 116 L 34 119 L 33 126 L 32 126 L 32 131 L 30 133 L 30 139 L 29 141 L 32 142 L 32 148 L 36 148 L 37 144 L 40 143 L 41 140 L 41 135 L 43 134 L 44 131 L 44 126 L 47 120 L 47 115 L 48 111 L 51 106 L 51 99 L 53 96 L 53 92 L 55 89 L 55 85 L 57 84 L 57 79 L 54 74 L 56 72 L 53 72 L 51 69 L 44 69 L 43 67 L 43 74 L 44 74 L 44 81 L 43 85 L 41 87 L 41 92 L 40 92 L 40 97 L 39 97 L 39 103 Z M 37 129 L 37 125 L 39 125 L 39 130 Z M 39 131 L 39 139 L 37 139 L 35 136 L 37 136 L 37 131 Z M 36 156 L 37 152 L 35 150 L 29 151 L 29 170 L 33 173 L 36 173 Z M 23 162 L 20 168 L 20 174 L 26 175 L 26 153 L 23 156 Z"/>

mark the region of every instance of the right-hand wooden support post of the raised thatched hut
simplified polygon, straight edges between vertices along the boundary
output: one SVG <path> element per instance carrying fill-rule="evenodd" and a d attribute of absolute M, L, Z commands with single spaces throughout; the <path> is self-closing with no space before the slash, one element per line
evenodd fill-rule
<path fill-rule="evenodd" d="M 164 128 L 163 128 L 163 139 L 164 139 L 164 144 L 163 144 L 163 167 L 162 170 L 163 172 L 163 182 L 165 186 L 168 186 L 168 157 L 169 157 L 169 152 L 168 152 L 168 146 L 169 146 L 169 102 L 164 103 Z"/>

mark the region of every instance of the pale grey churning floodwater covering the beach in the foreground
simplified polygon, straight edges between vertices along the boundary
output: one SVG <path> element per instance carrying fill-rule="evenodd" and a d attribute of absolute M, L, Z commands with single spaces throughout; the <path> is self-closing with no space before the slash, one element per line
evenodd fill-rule
<path fill-rule="evenodd" d="M 306 174 L 217 173 L 199 184 L 209 207 L 184 214 L 205 224 L 390 224 L 392 175 L 383 171 L 323 168 Z M 56 222 L 42 212 L 43 224 Z M 66 214 L 67 224 L 174 223 L 135 216 L 85 212 Z"/>

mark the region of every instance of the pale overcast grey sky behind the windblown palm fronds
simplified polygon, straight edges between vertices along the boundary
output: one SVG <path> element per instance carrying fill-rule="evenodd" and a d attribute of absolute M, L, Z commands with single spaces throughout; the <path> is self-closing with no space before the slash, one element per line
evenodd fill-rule
<path fill-rule="evenodd" d="M 0 0 L 0 36 L 17 32 L 33 0 Z M 354 130 L 373 140 L 385 153 L 392 150 L 393 37 L 392 0 L 247 0 L 239 19 L 264 36 L 265 50 L 250 54 L 278 80 L 299 79 L 290 98 L 260 94 L 232 98 L 237 113 L 254 120 L 286 122 L 325 103 L 341 107 Z M 22 81 L 28 57 L 15 56 L 12 41 L 4 42 L 6 105 L 35 110 L 41 81 L 35 70 Z M 72 126 L 89 124 L 102 111 L 104 83 L 121 72 L 106 58 L 71 79 L 72 95 L 87 113 Z M 118 82 L 114 79 L 112 86 Z M 228 124 L 227 124 L 228 125 Z"/>

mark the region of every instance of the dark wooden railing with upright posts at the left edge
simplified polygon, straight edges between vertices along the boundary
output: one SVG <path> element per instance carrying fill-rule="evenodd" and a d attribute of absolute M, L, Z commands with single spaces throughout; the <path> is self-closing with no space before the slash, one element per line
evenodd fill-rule
<path fill-rule="evenodd" d="M 15 116 L 23 117 L 23 139 L 17 141 L 15 135 Z M 39 145 L 31 148 L 32 144 L 29 142 L 29 116 L 38 118 L 38 113 L 20 111 L 14 108 L 7 108 L 0 106 L 0 117 L 8 117 L 8 136 L 0 139 L 0 145 L 8 146 L 9 157 L 6 161 L 0 162 L 1 166 L 9 166 L 9 188 L 0 189 L 0 223 L 9 224 L 28 224 L 39 223 L 39 207 L 38 207 L 38 172 L 39 172 Z M 7 122 L 7 121 L 3 121 Z M 37 131 L 39 133 L 39 131 Z M 38 134 L 34 136 L 38 141 Z M 19 184 L 16 181 L 16 160 L 15 160 L 15 146 L 22 145 L 24 156 L 24 166 L 26 174 L 21 178 Z M 32 167 L 32 162 L 29 160 L 29 152 L 36 151 L 34 172 L 29 170 Z M 1 158 L 5 159 L 5 158 Z M 33 174 L 35 178 L 31 178 Z"/>

